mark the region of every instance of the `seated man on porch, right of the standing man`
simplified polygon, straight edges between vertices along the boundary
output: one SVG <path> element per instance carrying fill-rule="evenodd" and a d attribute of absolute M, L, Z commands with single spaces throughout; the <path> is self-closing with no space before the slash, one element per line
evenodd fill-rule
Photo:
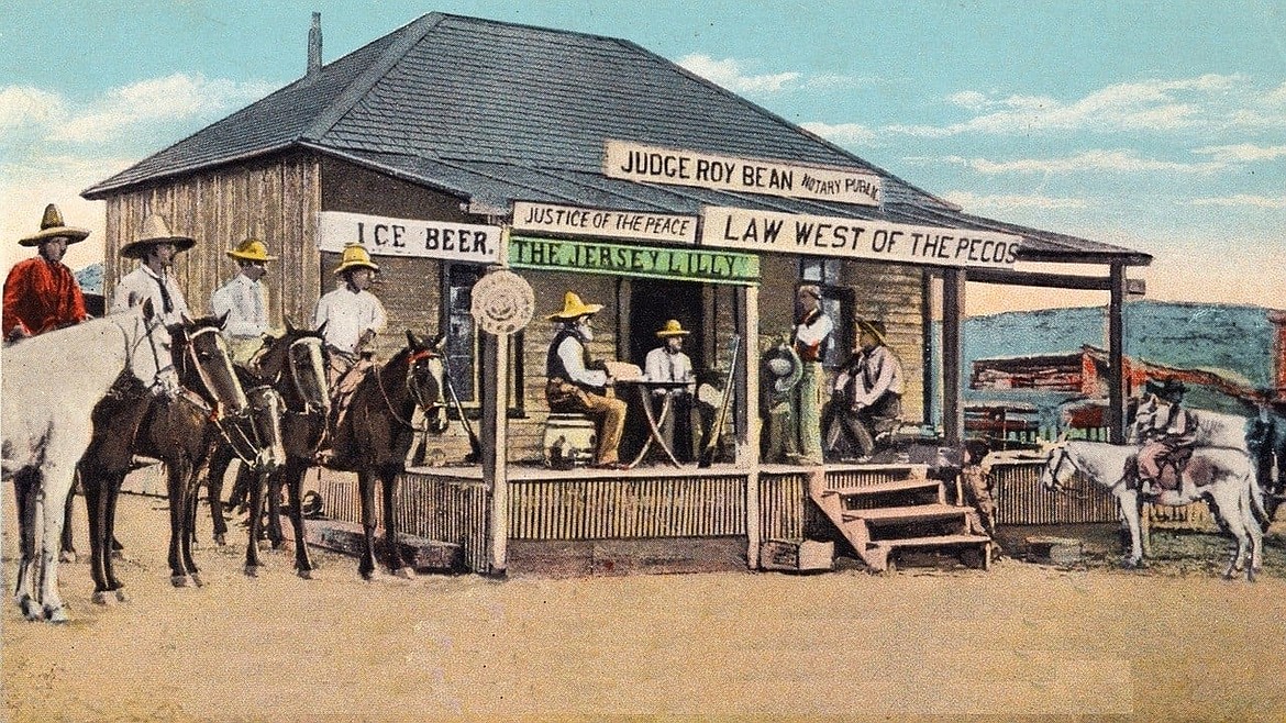
<path fill-rule="evenodd" d="M 826 452 L 832 457 L 842 458 L 847 443 L 858 462 L 869 461 L 876 440 L 901 423 L 901 360 L 886 337 L 883 322 L 858 319 L 858 347 L 835 376 L 823 413 Z"/>

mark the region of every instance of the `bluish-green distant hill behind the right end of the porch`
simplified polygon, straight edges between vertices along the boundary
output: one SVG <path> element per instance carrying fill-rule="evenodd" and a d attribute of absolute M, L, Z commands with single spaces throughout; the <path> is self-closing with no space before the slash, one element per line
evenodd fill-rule
<path fill-rule="evenodd" d="M 1106 349 L 1107 309 L 1102 306 L 1008 311 L 971 316 L 963 323 L 966 383 L 972 362 Z M 1256 389 L 1273 383 L 1273 324 L 1263 306 L 1132 301 L 1125 305 L 1125 355 L 1168 367 L 1222 371 Z M 1051 409 L 1069 395 L 1031 391 L 964 390 L 966 401 L 1028 401 Z M 1242 412 L 1222 395 L 1193 390 L 1191 405 Z"/>

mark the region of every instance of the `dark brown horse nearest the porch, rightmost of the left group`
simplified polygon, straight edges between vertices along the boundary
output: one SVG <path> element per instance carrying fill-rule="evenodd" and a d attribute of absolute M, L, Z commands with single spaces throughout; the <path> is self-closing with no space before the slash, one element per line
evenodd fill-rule
<path fill-rule="evenodd" d="M 405 566 L 397 544 L 397 517 L 394 502 L 397 476 L 405 471 L 415 428 L 417 410 L 426 416 L 428 431 L 442 434 L 448 427 L 444 389 L 441 336 L 426 342 L 406 332 L 406 347 L 361 380 L 347 413 L 332 428 L 334 455 L 328 468 L 356 472 L 361 495 L 364 547 L 358 572 L 367 580 L 376 574 L 376 482 L 383 493 L 383 521 L 388 569 L 394 575 L 414 578 Z M 252 515 L 255 512 L 252 511 Z"/>

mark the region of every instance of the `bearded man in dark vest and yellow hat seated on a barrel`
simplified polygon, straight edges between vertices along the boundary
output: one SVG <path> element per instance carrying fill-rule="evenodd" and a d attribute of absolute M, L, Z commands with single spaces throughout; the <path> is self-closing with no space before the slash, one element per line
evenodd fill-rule
<path fill-rule="evenodd" d="M 580 295 L 568 291 L 563 296 L 563 307 L 545 316 L 557 325 L 545 359 L 545 399 L 550 412 L 579 412 L 593 417 L 598 425 L 594 464 L 619 468 L 625 403 L 616 399 L 612 378 L 606 371 L 590 369 L 586 347 L 594 338 L 592 319 L 602 309 L 602 304 L 585 304 Z"/>

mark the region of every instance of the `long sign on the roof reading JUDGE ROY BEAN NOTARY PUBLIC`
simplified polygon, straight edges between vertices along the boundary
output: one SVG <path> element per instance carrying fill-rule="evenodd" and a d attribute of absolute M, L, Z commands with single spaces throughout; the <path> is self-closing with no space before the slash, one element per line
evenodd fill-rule
<path fill-rule="evenodd" d="M 863 206 L 878 206 L 881 199 L 880 176 L 865 171 L 671 151 L 624 140 L 606 143 L 603 175 L 610 179 L 642 183 L 692 185 Z"/>

